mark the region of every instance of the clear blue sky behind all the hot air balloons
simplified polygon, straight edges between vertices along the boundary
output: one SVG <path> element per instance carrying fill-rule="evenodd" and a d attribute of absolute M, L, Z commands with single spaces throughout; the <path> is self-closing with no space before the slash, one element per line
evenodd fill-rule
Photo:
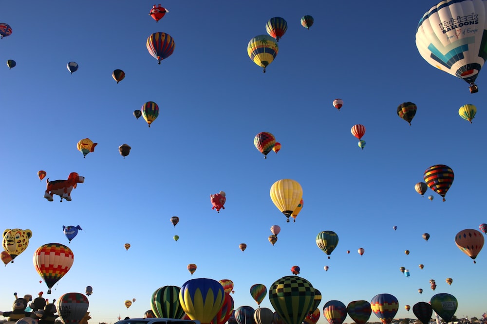
<path fill-rule="evenodd" d="M 399 300 L 396 318 L 414 318 L 405 305 L 448 292 L 458 300 L 457 317 L 480 317 L 486 254 L 473 264 L 454 237 L 487 222 L 487 83 L 481 72 L 479 92 L 470 94 L 467 83 L 420 56 L 417 23 L 435 3 L 168 0 L 158 23 L 149 1 L 4 3 L 0 22 L 13 33 L 0 40 L 0 223 L 33 236 L 14 263 L 0 267 L 0 310 L 11 310 L 14 292 L 47 292 L 32 256 L 59 242 L 75 261 L 44 297 L 91 285 L 93 323 L 142 317 L 152 292 L 195 277 L 231 279 L 235 308 L 255 308 L 250 287 L 269 289 L 294 265 L 321 291 L 320 311 L 329 300 L 347 305 L 390 293 Z M 315 19 L 310 30 L 300 25 L 303 15 Z M 271 17 L 286 19 L 288 30 L 264 74 L 246 46 L 266 34 Z M 161 65 L 146 49 L 155 32 L 175 41 Z M 8 59 L 17 66 L 9 70 Z M 79 65 L 73 74 L 70 61 Z M 126 73 L 119 84 L 111 76 L 117 68 Z M 336 98 L 344 101 L 340 111 Z M 132 115 L 148 101 L 160 109 L 150 128 Z M 412 126 L 396 114 L 408 101 L 417 105 Z M 472 124 L 458 115 L 466 103 L 478 108 Z M 350 132 L 355 124 L 366 127 L 363 150 Z M 267 159 L 253 144 L 263 131 L 282 145 Z M 83 158 L 76 143 L 85 137 L 98 145 Z M 124 143 L 131 146 L 125 159 Z M 414 190 L 435 164 L 455 173 L 446 202 Z M 85 182 L 71 202 L 48 202 L 39 170 L 50 180 L 78 172 Z M 269 196 L 285 178 L 303 188 L 296 222 L 286 223 Z M 220 190 L 227 200 L 217 213 L 210 195 Z M 180 218 L 176 227 L 171 216 Z M 68 244 L 63 225 L 83 230 Z M 275 246 L 267 240 L 272 225 L 281 226 Z M 339 237 L 330 259 L 315 242 L 325 230 Z M 198 267 L 192 276 L 188 263 Z M 272 308 L 267 297 L 261 307 Z"/>

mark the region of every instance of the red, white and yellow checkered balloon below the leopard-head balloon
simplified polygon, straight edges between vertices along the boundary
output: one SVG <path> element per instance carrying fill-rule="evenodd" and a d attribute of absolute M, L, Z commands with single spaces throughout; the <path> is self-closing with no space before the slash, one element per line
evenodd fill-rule
<path fill-rule="evenodd" d="M 56 282 L 71 269 L 74 258 L 71 249 L 60 243 L 44 244 L 34 252 L 34 267 L 49 288 L 48 294 Z"/>

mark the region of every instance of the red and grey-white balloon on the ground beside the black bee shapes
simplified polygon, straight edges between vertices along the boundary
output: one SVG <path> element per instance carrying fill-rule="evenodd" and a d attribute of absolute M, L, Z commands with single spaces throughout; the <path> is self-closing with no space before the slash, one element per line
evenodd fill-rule
<path fill-rule="evenodd" d="M 78 324 L 86 315 L 90 302 L 79 292 L 68 292 L 57 300 L 57 312 L 64 324 Z"/>

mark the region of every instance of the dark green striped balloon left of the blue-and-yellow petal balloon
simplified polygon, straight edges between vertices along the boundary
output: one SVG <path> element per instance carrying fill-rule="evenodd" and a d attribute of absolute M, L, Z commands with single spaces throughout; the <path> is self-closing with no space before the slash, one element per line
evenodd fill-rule
<path fill-rule="evenodd" d="M 183 307 L 179 302 L 177 286 L 163 286 L 152 293 L 150 297 L 150 309 L 158 318 L 178 318 L 184 315 Z"/>

